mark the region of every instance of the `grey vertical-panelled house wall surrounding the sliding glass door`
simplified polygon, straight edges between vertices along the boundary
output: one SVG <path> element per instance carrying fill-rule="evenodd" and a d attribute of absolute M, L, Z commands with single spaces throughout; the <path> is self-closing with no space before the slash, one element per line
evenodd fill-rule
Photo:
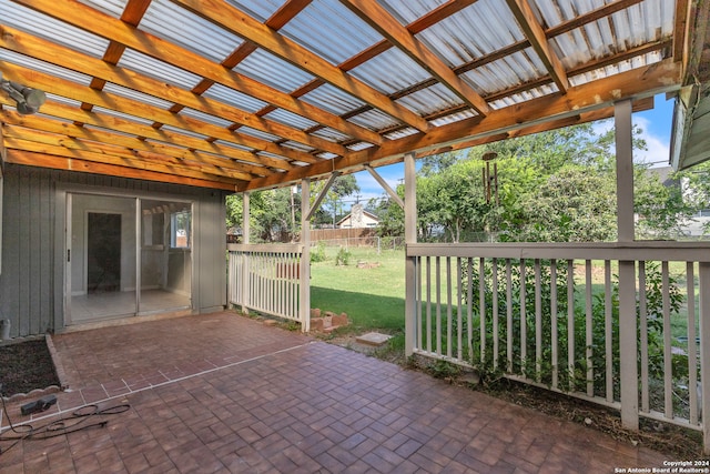
<path fill-rule="evenodd" d="M 193 310 L 209 312 L 226 305 L 224 192 L 8 164 L 2 186 L 0 317 L 11 321 L 13 337 L 63 325 L 62 201 L 65 191 L 74 188 L 194 200 Z"/>

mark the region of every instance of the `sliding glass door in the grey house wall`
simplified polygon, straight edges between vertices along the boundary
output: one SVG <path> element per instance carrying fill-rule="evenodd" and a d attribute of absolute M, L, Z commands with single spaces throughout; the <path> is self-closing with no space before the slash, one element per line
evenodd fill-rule
<path fill-rule="evenodd" d="M 192 204 L 68 193 L 67 324 L 192 306 Z"/>

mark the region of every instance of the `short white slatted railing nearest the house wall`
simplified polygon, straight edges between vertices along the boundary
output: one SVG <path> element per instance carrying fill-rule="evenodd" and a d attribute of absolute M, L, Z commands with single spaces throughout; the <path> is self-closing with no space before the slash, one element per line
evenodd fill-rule
<path fill-rule="evenodd" d="M 229 244 L 229 302 L 303 322 L 301 311 L 301 244 Z"/>

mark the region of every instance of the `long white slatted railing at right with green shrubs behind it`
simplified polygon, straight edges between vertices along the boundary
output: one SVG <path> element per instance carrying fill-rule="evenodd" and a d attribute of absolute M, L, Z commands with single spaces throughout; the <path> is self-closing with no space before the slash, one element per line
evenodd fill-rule
<path fill-rule="evenodd" d="M 619 409 L 637 424 L 701 430 L 710 448 L 707 243 L 409 244 L 407 259 L 414 353 Z"/>

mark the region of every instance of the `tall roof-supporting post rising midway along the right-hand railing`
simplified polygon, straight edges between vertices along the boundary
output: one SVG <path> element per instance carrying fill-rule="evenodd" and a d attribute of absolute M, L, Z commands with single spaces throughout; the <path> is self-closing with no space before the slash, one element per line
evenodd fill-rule
<path fill-rule="evenodd" d="M 617 153 L 618 241 L 633 242 L 633 149 L 631 145 L 631 101 L 615 103 Z M 619 356 L 621 379 L 621 424 L 639 428 L 638 342 L 636 334 L 636 263 L 619 261 Z"/>

